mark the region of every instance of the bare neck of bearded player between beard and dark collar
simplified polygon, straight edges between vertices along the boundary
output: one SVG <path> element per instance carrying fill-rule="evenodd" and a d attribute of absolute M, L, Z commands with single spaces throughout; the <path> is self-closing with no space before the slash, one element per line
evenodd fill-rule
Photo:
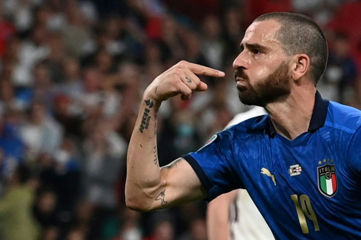
<path fill-rule="evenodd" d="M 278 133 L 289 140 L 297 138 L 309 129 L 315 102 L 316 88 L 299 87 L 282 102 L 266 105 L 270 119 Z"/>

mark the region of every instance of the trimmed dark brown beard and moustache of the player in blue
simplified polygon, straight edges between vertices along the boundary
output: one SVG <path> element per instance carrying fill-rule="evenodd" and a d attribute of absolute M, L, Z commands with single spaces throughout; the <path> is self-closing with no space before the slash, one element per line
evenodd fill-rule
<path fill-rule="evenodd" d="M 242 69 L 234 72 L 234 78 L 236 77 L 240 77 L 248 83 L 247 86 L 237 85 L 239 100 L 246 105 L 265 107 L 268 103 L 277 102 L 291 92 L 286 62 L 282 62 L 273 73 L 255 85 L 250 84 L 249 77 Z"/>

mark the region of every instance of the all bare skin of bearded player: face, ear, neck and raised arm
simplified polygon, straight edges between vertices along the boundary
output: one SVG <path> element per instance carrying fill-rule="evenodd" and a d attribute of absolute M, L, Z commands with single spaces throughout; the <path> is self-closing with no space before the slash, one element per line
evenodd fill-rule
<path fill-rule="evenodd" d="M 316 89 L 309 79 L 309 57 L 288 56 L 274 34 L 280 28 L 274 20 L 255 22 L 246 30 L 244 48 L 233 62 L 249 81 L 237 78 L 237 85 L 256 85 L 288 62 L 290 94 L 265 104 L 276 130 L 292 140 L 308 130 Z M 261 46 L 260 49 L 259 46 Z M 258 47 L 258 48 L 256 48 Z M 205 198 L 207 193 L 193 168 L 182 158 L 159 168 L 156 144 L 156 116 L 162 101 L 180 95 L 190 99 L 192 91 L 206 91 L 197 75 L 223 77 L 204 66 L 181 61 L 160 74 L 145 90 L 127 156 L 126 204 L 138 211 L 167 208 Z"/>

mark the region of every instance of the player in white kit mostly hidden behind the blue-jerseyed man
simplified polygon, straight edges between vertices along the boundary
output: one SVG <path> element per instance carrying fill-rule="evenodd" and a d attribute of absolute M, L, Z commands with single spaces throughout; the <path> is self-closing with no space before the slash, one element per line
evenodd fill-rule
<path fill-rule="evenodd" d="M 239 113 L 226 128 L 244 120 L 267 114 L 254 106 Z M 213 199 L 207 207 L 209 240 L 274 240 L 271 230 L 245 189 L 233 190 Z"/>

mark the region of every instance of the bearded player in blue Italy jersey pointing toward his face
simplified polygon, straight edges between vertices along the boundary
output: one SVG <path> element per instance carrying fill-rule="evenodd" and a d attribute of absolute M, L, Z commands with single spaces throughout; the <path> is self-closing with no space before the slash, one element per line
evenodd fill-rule
<path fill-rule="evenodd" d="M 322 99 L 327 43 L 308 17 L 269 13 L 246 30 L 233 62 L 239 98 L 255 117 L 159 168 L 160 103 L 205 91 L 197 75 L 223 72 L 181 61 L 143 94 L 129 143 L 126 203 L 150 211 L 247 189 L 276 239 L 361 238 L 361 112 Z"/>

